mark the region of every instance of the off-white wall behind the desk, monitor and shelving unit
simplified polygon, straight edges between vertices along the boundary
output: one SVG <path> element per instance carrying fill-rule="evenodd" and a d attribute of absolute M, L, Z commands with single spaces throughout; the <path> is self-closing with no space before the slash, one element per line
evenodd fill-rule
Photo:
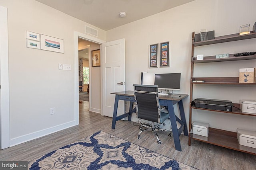
<path fill-rule="evenodd" d="M 239 26 L 255 23 L 255 0 L 196 0 L 159 14 L 134 21 L 107 31 L 107 41 L 125 38 L 126 90 L 140 83 L 140 72 L 181 72 L 182 94 L 190 94 L 192 32 L 215 30 L 215 37 L 239 32 Z M 124 18 L 125 19 L 125 18 Z M 149 45 L 171 41 L 170 67 L 148 68 Z M 255 51 L 256 39 L 196 47 L 195 54 L 216 55 Z M 204 48 L 204 49 L 203 49 Z M 256 61 L 231 61 L 196 64 L 195 77 L 238 76 L 239 68 L 256 67 Z M 177 91 L 178 92 L 178 91 Z M 256 86 L 196 85 L 193 98 L 231 100 L 256 99 Z M 189 97 L 184 100 L 188 124 Z M 135 115 L 135 114 L 134 114 Z M 133 115 L 133 120 L 134 119 Z M 236 131 L 236 128 L 256 131 L 256 117 L 193 110 L 193 121 L 210 123 L 210 127 Z"/>

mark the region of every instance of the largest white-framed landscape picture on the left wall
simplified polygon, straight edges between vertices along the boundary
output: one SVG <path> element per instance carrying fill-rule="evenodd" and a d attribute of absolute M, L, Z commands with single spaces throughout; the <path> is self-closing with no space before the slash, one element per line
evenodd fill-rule
<path fill-rule="evenodd" d="M 41 34 L 41 50 L 64 53 L 64 40 Z"/>

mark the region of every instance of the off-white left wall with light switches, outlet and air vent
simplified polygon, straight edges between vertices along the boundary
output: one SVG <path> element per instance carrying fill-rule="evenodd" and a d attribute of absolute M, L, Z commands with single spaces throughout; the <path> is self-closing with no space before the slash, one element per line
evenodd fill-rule
<path fill-rule="evenodd" d="M 74 31 L 92 25 L 35 0 L 1 0 L 0 6 L 8 8 L 10 144 L 75 125 Z M 94 28 L 105 40 L 106 32 Z M 26 30 L 64 39 L 64 54 L 26 48 Z M 72 70 L 58 70 L 58 63 Z"/>

